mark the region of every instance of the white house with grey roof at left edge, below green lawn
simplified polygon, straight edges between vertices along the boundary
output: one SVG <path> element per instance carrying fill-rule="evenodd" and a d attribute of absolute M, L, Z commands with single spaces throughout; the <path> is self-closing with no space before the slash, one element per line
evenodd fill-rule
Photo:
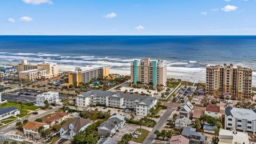
<path fill-rule="evenodd" d="M 0 121 L 11 116 L 17 116 L 19 114 L 20 110 L 16 107 L 0 108 Z"/>

